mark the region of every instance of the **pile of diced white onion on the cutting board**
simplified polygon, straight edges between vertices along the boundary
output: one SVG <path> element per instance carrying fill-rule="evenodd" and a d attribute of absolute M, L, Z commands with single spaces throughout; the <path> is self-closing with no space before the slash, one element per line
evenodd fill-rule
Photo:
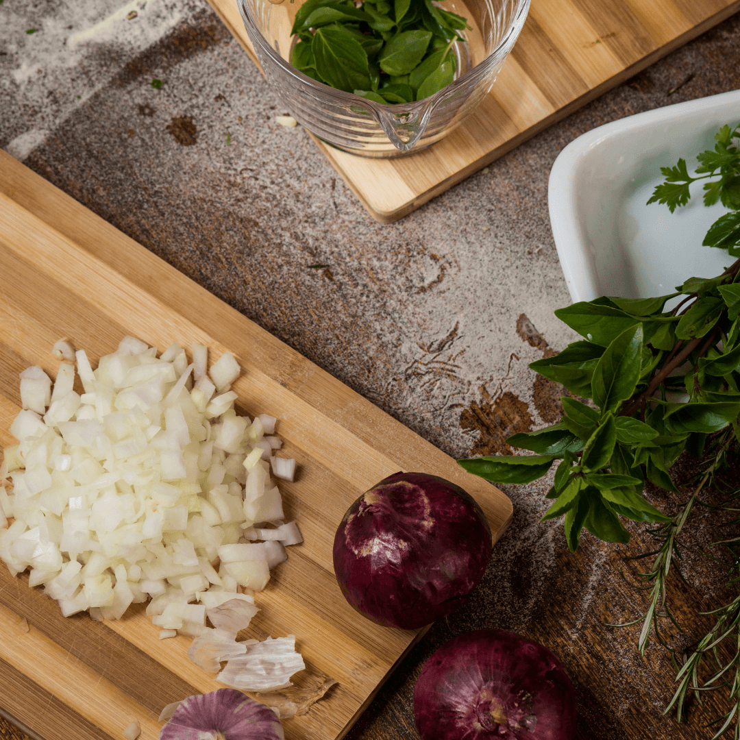
<path fill-rule="evenodd" d="M 275 458 L 275 418 L 239 416 L 238 363 L 226 353 L 206 373 L 206 352 L 193 345 L 189 363 L 177 344 L 157 357 L 125 337 L 93 371 L 60 341 L 54 383 L 37 366 L 21 373 L 23 410 L 10 428 L 19 444 L 0 471 L 13 482 L 0 485 L 0 526 L 15 521 L 1 531 L 0 558 L 13 575 L 30 568 L 30 585 L 65 616 L 119 619 L 151 598 L 163 637 L 231 634 L 233 614 L 211 630 L 206 610 L 239 600 L 251 619 L 243 590 L 261 591 L 284 546 L 301 541 L 270 478 L 271 465 L 289 480 L 295 470 Z"/>

